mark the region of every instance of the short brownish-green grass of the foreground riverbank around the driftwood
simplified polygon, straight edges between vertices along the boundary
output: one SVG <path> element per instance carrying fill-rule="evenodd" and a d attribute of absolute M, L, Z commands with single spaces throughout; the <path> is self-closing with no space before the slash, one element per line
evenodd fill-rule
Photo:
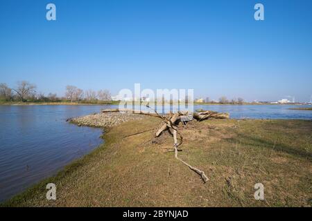
<path fill-rule="evenodd" d="M 205 171 L 209 182 L 175 160 L 172 137 L 153 144 L 161 121 L 125 122 L 105 144 L 2 206 L 312 206 L 312 122 L 213 119 L 182 129 L 180 158 Z M 57 200 L 46 200 L 46 184 Z M 265 188 L 254 200 L 254 184 Z"/>

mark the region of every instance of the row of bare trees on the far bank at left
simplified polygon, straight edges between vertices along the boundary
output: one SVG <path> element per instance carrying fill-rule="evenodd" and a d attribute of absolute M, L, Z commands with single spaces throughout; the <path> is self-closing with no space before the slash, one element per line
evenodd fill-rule
<path fill-rule="evenodd" d="M 0 83 L 1 102 L 79 102 L 79 103 L 107 103 L 111 101 L 109 90 L 86 90 L 83 91 L 76 86 L 66 86 L 64 97 L 58 97 L 56 93 L 37 92 L 37 86 L 28 81 L 19 81 L 15 88 Z"/>

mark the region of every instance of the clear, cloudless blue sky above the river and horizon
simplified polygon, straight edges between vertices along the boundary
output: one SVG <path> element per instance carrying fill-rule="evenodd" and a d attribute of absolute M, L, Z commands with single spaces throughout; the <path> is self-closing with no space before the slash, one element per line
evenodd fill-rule
<path fill-rule="evenodd" d="M 46 20 L 55 3 L 57 20 Z M 265 21 L 254 20 L 263 3 Z M 0 82 L 309 101 L 312 1 L 0 1 Z"/>

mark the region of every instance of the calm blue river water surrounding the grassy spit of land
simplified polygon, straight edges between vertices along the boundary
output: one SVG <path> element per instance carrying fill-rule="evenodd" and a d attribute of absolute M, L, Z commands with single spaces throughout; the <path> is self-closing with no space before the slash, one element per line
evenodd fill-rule
<path fill-rule="evenodd" d="M 312 119 L 312 111 L 289 110 L 291 107 L 198 105 L 194 108 L 228 112 L 232 118 Z M 78 127 L 66 119 L 96 113 L 102 108 L 116 106 L 0 106 L 0 202 L 55 174 L 101 144 L 101 129 Z"/>

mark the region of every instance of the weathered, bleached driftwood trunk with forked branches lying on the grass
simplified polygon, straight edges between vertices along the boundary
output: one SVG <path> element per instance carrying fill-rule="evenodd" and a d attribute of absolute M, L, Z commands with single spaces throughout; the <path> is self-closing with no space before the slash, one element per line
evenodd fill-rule
<path fill-rule="evenodd" d="M 150 106 L 146 106 L 148 108 L 150 108 Z M 152 109 L 152 108 L 150 108 Z M 153 110 L 153 109 L 152 109 Z M 175 151 L 175 159 L 179 160 L 180 162 L 182 162 L 183 164 L 189 166 L 189 169 L 191 169 L 192 171 L 195 171 L 196 173 L 198 173 L 198 175 L 200 175 L 202 181 L 204 183 L 206 183 L 209 179 L 207 177 L 207 175 L 205 175 L 205 173 L 203 171 L 200 171 L 200 169 L 197 169 L 193 166 L 191 166 L 190 164 L 188 164 L 187 162 L 184 162 L 183 160 L 181 160 L 178 155 L 177 152 L 180 151 L 177 149 L 178 146 L 180 146 L 183 142 L 183 137 L 180 133 L 180 131 L 177 128 L 177 125 L 179 124 L 179 122 L 182 120 L 182 122 L 189 122 L 193 119 L 201 122 L 205 119 L 209 119 L 209 118 L 215 118 L 215 119 L 228 119 L 229 118 L 229 114 L 228 113 L 218 113 L 216 111 L 203 111 L 203 110 L 198 110 L 198 112 L 193 113 L 193 115 L 191 114 L 191 116 L 185 112 L 185 111 L 177 111 L 177 113 L 168 113 L 167 115 L 160 115 L 159 113 L 157 113 L 157 111 L 153 110 L 155 113 L 149 113 L 146 111 L 137 111 L 137 110 L 131 110 L 131 109 L 105 109 L 102 111 L 102 113 L 112 113 L 112 112 L 125 112 L 125 113 L 133 113 L 133 114 L 140 114 L 140 115 L 148 115 L 148 116 L 152 116 L 152 117 L 159 117 L 164 121 L 164 124 L 162 124 L 162 126 L 159 128 L 159 130 L 156 132 L 155 137 L 159 137 L 160 135 L 162 135 L 162 133 L 164 131 L 168 131 L 169 133 L 171 133 L 171 135 L 173 136 L 173 148 Z M 147 130 L 147 131 L 151 131 L 153 129 Z M 145 133 L 147 131 L 141 131 L 139 133 L 134 133 L 132 135 L 137 135 L 137 134 L 141 134 L 141 133 Z M 130 137 L 132 135 L 127 135 L 125 137 Z M 177 135 L 179 136 L 179 140 L 177 139 Z"/>

